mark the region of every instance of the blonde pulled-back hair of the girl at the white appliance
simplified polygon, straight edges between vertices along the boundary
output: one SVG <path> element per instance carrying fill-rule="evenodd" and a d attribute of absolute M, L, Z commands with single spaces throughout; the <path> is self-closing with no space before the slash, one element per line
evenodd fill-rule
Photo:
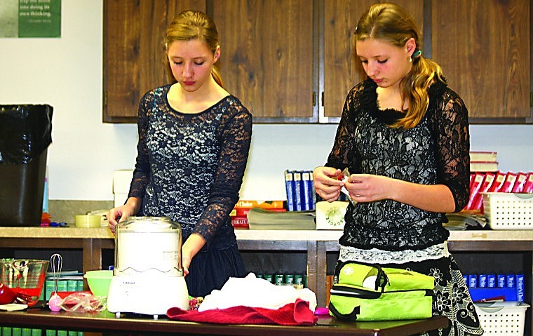
<path fill-rule="evenodd" d="M 213 54 L 219 46 L 215 22 L 201 11 L 183 11 L 178 14 L 166 30 L 165 46 L 168 48 L 170 43 L 174 41 L 190 41 L 192 39 L 198 39 L 205 43 Z M 169 76 L 173 78 L 168 61 L 166 62 L 166 69 Z M 211 75 L 218 85 L 224 88 L 222 76 L 220 76 L 220 62 L 215 63 Z"/>

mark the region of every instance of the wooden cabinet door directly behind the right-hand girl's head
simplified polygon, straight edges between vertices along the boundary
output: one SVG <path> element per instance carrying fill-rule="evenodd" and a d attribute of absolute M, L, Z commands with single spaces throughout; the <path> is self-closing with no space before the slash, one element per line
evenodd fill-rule
<path fill-rule="evenodd" d="M 375 0 L 326 0 L 323 20 L 323 68 L 321 112 L 323 123 L 338 123 L 349 90 L 366 78 L 356 51 L 353 32 L 361 15 Z M 423 0 L 394 1 L 410 13 L 419 29 L 424 27 Z"/>

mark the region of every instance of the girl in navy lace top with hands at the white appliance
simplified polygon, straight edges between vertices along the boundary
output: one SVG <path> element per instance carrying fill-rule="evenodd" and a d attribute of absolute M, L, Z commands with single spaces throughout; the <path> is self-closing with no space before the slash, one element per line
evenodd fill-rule
<path fill-rule="evenodd" d="M 113 232 L 134 215 L 180 223 L 189 295 L 203 297 L 246 275 L 229 213 L 248 161 L 252 115 L 224 89 L 217 27 L 208 15 L 180 13 L 164 42 L 173 83 L 140 101 L 128 200 L 107 218 Z"/>

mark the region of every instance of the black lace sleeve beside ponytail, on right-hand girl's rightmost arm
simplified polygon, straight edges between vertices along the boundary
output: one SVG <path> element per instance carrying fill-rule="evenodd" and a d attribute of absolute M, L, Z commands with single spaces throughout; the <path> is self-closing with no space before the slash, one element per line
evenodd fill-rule
<path fill-rule="evenodd" d="M 470 135 L 468 110 L 463 100 L 443 87 L 430 88 L 436 97 L 428 108 L 429 122 L 436 140 L 438 182 L 450 188 L 454 196 L 455 212 L 461 211 L 470 195 Z"/>

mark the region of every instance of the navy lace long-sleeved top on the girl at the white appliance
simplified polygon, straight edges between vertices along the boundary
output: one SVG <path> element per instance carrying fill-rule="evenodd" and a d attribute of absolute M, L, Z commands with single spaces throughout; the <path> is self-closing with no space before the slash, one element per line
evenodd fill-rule
<path fill-rule="evenodd" d="M 205 248 L 236 242 L 229 213 L 238 201 L 252 116 L 232 95 L 198 114 L 170 107 L 170 85 L 149 91 L 139 105 L 137 162 L 128 196 L 144 216 L 180 223 L 185 239 L 198 233 Z"/>

